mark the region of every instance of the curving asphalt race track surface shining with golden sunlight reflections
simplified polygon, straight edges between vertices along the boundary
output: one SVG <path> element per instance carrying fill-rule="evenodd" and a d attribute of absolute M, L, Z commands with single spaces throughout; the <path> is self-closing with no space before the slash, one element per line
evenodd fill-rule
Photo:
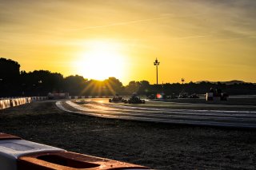
<path fill-rule="evenodd" d="M 157 104 L 157 105 L 156 105 Z M 181 125 L 208 125 L 234 128 L 256 128 L 256 107 L 253 111 L 225 110 L 226 105 L 195 106 L 201 109 L 170 109 L 170 103 L 146 101 L 146 105 L 110 104 L 107 99 L 86 99 L 83 101 L 57 101 L 56 105 L 70 113 L 94 117 L 106 117 L 133 121 L 152 121 Z M 68 105 L 68 107 L 66 107 Z M 174 104 L 175 105 L 175 104 Z M 179 105 L 179 104 L 176 104 Z M 182 104 L 192 105 L 193 104 Z M 154 107 L 155 106 L 155 107 Z M 238 106 L 229 106 L 235 109 Z M 239 106 L 241 107 L 241 106 Z"/>

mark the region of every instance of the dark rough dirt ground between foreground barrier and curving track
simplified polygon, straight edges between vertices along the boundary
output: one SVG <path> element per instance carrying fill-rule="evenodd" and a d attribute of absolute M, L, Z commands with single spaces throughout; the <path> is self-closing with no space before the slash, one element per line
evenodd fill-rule
<path fill-rule="evenodd" d="M 254 129 L 110 120 L 34 102 L 0 110 L 0 132 L 154 169 L 256 168 Z"/>

